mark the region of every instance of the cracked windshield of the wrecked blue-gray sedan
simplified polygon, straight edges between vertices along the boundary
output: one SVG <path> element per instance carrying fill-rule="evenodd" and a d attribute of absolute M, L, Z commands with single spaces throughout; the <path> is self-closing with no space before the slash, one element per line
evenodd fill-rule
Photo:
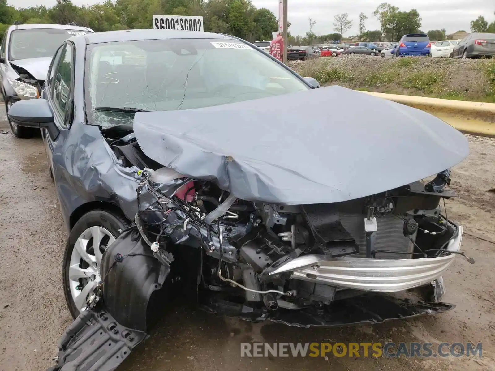
<path fill-rule="evenodd" d="M 116 109 L 191 109 L 309 89 L 266 54 L 237 40 L 93 44 L 86 58 L 86 110 L 90 122 L 102 128 L 114 126 L 116 115 L 129 123 L 133 114 Z"/>

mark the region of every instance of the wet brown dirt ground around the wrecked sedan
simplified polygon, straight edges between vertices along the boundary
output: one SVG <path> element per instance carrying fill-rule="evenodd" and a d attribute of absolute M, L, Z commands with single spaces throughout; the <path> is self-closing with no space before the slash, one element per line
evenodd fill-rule
<path fill-rule="evenodd" d="M 3 104 L 1 104 L 3 107 Z M 46 370 L 71 318 L 61 285 L 66 232 L 41 138 L 16 139 L 0 112 L 0 370 Z M 495 370 L 495 139 L 468 136 L 471 153 L 452 174 L 458 199 L 447 216 L 465 227 L 462 249 L 444 276 L 439 316 L 384 325 L 302 329 L 253 325 L 180 307 L 119 368 L 130 370 Z M 473 342 L 483 357 L 241 358 L 241 342 Z"/>

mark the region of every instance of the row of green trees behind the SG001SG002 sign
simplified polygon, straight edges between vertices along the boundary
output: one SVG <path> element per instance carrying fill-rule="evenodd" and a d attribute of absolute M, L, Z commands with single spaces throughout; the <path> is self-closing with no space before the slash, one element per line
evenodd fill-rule
<path fill-rule="evenodd" d="M 43 5 L 14 9 L 0 0 L 0 22 L 76 22 L 95 31 L 152 28 L 154 14 L 197 15 L 204 19 L 204 30 L 239 36 L 249 41 L 269 39 L 278 29 L 275 15 L 257 9 L 250 0 L 107 0 L 91 6 L 76 6 L 71 0 L 57 0 L 50 8 Z M 17 19 L 12 16 L 17 14 Z"/>

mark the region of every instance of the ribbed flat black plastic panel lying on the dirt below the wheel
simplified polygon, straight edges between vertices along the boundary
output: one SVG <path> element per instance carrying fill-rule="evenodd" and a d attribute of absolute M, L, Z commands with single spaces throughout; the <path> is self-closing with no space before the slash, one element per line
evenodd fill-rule
<path fill-rule="evenodd" d="M 58 343 L 56 366 L 48 371 L 115 370 L 148 334 L 119 325 L 98 303 L 83 311 Z"/>

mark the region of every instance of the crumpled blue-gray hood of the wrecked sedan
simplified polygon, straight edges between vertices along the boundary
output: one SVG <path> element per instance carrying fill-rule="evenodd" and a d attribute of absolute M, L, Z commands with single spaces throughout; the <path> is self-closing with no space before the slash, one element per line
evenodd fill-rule
<path fill-rule="evenodd" d="M 143 152 L 166 167 L 216 180 L 244 200 L 287 205 L 380 193 L 437 174 L 469 152 L 467 139 L 442 120 L 339 86 L 138 112 L 134 132 Z"/>

